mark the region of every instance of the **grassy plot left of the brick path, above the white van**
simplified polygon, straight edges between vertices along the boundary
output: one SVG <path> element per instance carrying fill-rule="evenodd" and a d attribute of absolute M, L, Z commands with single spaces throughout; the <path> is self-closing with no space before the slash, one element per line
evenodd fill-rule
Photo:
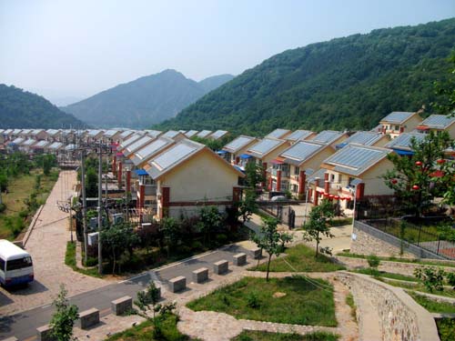
<path fill-rule="evenodd" d="M 35 190 L 35 176 L 41 174 L 38 190 Z M 52 187 L 56 184 L 57 176 L 44 176 L 41 170 L 30 172 L 29 175 L 12 177 L 9 179 L 8 193 L 2 193 L 3 203 L 6 205 L 4 213 L 0 214 L 0 239 L 14 240 L 20 232 L 28 226 L 35 215 L 35 211 L 28 212 L 25 199 L 36 193 L 36 201 L 43 205 Z"/>

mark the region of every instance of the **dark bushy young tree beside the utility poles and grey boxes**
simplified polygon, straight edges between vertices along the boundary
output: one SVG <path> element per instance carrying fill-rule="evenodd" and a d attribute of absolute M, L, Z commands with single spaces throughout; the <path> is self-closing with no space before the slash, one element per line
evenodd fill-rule
<path fill-rule="evenodd" d="M 139 243 L 139 236 L 129 223 L 116 224 L 101 231 L 101 242 L 106 252 L 112 256 L 112 273 L 116 272 L 116 262 L 126 251 L 131 251 Z"/>

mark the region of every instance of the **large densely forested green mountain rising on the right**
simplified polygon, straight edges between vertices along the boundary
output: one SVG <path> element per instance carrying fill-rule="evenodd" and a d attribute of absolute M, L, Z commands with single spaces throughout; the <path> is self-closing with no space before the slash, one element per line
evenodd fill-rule
<path fill-rule="evenodd" d="M 386 28 L 285 51 L 189 105 L 159 129 L 365 129 L 430 107 L 449 75 L 455 19 Z"/>

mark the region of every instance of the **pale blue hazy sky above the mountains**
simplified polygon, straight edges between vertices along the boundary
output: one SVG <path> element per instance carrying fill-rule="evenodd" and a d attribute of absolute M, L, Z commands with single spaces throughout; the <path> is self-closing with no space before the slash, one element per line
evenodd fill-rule
<path fill-rule="evenodd" d="M 239 75 L 288 49 L 454 16 L 454 0 L 0 0 L 0 84 L 64 105 L 167 68 Z"/>

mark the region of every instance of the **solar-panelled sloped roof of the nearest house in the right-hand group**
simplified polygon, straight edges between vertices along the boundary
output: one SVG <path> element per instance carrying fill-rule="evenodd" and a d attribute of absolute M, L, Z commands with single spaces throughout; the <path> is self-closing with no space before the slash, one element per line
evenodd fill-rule
<path fill-rule="evenodd" d="M 391 152 L 390 149 L 385 148 L 350 144 L 324 160 L 322 167 L 331 165 L 333 167 L 330 169 L 334 171 L 359 176 Z"/>

